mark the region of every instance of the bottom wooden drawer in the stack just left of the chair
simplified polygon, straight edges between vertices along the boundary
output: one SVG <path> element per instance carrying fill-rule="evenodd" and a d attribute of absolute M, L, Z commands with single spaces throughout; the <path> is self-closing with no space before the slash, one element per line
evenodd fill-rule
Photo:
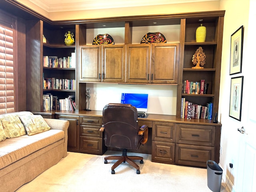
<path fill-rule="evenodd" d="M 102 154 L 102 138 L 80 136 L 79 150 L 90 154 Z"/>

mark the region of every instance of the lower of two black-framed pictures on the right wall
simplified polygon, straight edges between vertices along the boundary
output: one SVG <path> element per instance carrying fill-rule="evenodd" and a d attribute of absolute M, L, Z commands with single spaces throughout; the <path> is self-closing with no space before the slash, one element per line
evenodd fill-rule
<path fill-rule="evenodd" d="M 231 78 L 229 116 L 241 121 L 244 76 Z"/>

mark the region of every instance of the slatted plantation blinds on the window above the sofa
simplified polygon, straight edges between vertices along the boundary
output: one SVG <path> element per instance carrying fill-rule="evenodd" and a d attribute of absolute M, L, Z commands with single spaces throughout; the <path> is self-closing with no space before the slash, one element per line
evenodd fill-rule
<path fill-rule="evenodd" d="M 11 24 L 0 21 L 0 114 L 14 112 L 14 44 Z"/>

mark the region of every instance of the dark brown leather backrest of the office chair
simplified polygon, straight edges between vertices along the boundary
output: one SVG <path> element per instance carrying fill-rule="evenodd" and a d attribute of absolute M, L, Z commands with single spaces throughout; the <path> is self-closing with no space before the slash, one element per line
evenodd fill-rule
<path fill-rule="evenodd" d="M 103 109 L 104 140 L 108 147 L 135 149 L 143 137 L 138 135 L 137 109 L 130 104 L 108 104 Z"/>

